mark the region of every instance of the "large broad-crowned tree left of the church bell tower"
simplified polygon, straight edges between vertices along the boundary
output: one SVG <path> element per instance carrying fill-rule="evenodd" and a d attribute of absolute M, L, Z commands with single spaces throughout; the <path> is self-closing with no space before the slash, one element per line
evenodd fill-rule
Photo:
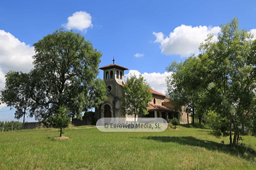
<path fill-rule="evenodd" d="M 97 79 L 102 54 L 82 35 L 60 29 L 33 46 L 36 55 L 26 97 L 37 120 L 53 125 L 61 106 L 68 109 L 68 116 L 82 118 L 82 112 L 105 101 L 105 83 Z"/>

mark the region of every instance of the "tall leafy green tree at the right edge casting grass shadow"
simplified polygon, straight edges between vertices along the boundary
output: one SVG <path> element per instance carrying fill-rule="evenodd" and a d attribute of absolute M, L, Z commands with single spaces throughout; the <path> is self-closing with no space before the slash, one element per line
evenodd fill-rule
<path fill-rule="evenodd" d="M 230 145 L 238 145 L 242 125 L 255 114 L 256 42 L 247 30 L 240 30 L 238 19 L 221 26 L 218 40 L 208 35 L 199 60 L 206 67 L 208 86 L 213 89 L 214 111 L 228 121 Z M 232 137 L 232 131 L 234 137 Z"/>

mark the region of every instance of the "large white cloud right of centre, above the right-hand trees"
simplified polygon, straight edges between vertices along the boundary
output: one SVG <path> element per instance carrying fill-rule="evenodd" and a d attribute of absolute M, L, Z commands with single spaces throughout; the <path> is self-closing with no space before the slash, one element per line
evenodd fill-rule
<path fill-rule="evenodd" d="M 153 32 L 156 36 L 154 42 L 161 44 L 161 52 L 164 55 L 180 55 L 181 57 L 189 57 L 193 53 L 197 54 L 200 43 L 206 40 L 209 33 L 216 36 L 220 33 L 220 27 L 181 25 L 175 28 L 166 38 L 161 32 Z"/>

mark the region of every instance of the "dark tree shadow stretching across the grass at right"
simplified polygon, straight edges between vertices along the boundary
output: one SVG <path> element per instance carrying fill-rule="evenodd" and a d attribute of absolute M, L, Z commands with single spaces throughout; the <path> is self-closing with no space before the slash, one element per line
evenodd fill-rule
<path fill-rule="evenodd" d="M 151 137 L 141 137 L 145 140 L 156 140 L 160 142 L 176 142 L 179 145 L 188 145 L 195 147 L 204 147 L 208 150 L 223 152 L 225 154 L 231 154 L 234 156 L 239 156 L 242 159 L 255 161 L 256 152 L 251 147 L 245 145 L 239 145 L 238 147 L 230 147 L 229 145 L 224 145 L 221 143 L 209 141 L 209 140 L 198 140 L 196 137 L 170 137 L 170 136 L 151 136 Z"/>

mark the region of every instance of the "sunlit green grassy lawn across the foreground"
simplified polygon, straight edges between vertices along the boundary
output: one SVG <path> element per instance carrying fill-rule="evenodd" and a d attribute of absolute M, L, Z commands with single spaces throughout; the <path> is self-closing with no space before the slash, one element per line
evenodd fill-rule
<path fill-rule="evenodd" d="M 68 129 L 0 132 L 0 169 L 256 169 L 256 138 L 230 148 L 209 129 L 100 132 Z"/>

